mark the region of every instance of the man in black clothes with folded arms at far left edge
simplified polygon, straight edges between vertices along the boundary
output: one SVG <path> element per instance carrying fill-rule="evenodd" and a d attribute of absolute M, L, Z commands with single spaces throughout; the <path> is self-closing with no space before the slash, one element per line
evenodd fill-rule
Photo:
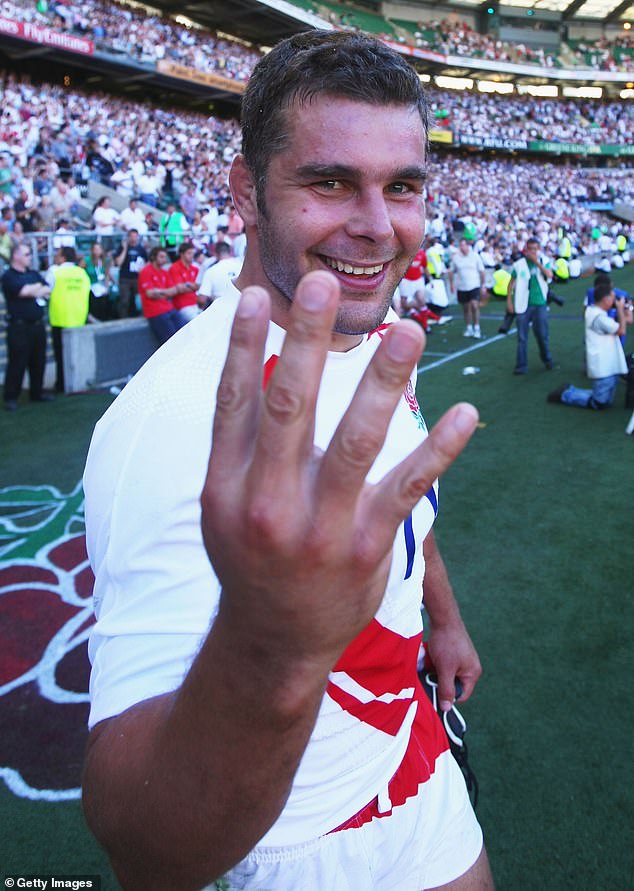
<path fill-rule="evenodd" d="M 44 307 L 51 289 L 39 272 L 29 268 L 31 249 L 28 245 L 15 245 L 9 263 L 0 281 L 7 304 L 4 407 L 7 411 L 15 411 L 27 369 L 31 402 L 50 402 L 52 399 L 42 392 L 46 368 Z"/>

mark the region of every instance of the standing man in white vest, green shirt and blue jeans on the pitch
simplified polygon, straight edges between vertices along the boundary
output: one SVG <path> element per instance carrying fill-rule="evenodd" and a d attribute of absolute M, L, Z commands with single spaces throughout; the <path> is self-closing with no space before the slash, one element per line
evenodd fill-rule
<path fill-rule="evenodd" d="M 513 263 L 506 298 L 506 310 L 515 313 L 517 325 L 517 357 L 514 374 L 528 374 L 528 329 L 539 347 L 541 360 L 550 371 L 553 358 L 548 345 L 548 282 L 553 274 L 540 256 L 539 241 L 529 238 L 524 256 Z"/>

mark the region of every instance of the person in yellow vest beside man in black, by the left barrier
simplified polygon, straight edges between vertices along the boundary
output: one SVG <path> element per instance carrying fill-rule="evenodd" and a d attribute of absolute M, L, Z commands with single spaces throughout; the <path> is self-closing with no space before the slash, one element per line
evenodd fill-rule
<path fill-rule="evenodd" d="M 55 355 L 55 389 L 64 392 L 64 328 L 81 328 L 88 318 L 90 278 L 85 269 L 77 265 L 75 248 L 62 247 L 55 257 L 57 265 L 49 272 L 51 296 L 48 319 L 53 338 Z"/>

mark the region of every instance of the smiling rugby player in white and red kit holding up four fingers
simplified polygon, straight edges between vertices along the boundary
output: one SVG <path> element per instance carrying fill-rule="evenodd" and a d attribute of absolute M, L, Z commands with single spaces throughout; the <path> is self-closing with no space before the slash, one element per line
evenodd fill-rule
<path fill-rule="evenodd" d="M 88 459 L 86 814 L 126 887 L 489 891 L 416 678 L 423 551 L 443 707 L 480 674 L 429 531 L 477 415 L 426 438 L 424 335 L 389 310 L 423 237 L 422 87 L 310 32 L 256 66 L 242 125 L 237 308 L 158 352 Z"/>

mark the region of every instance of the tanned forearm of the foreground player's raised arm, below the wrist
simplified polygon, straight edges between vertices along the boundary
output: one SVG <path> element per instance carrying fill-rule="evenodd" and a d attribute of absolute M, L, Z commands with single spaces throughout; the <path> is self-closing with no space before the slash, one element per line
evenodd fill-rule
<path fill-rule="evenodd" d="M 98 725 L 84 809 L 125 889 L 193 891 L 251 850 L 288 797 L 327 677 L 227 631 L 221 609 L 180 690 Z"/>

